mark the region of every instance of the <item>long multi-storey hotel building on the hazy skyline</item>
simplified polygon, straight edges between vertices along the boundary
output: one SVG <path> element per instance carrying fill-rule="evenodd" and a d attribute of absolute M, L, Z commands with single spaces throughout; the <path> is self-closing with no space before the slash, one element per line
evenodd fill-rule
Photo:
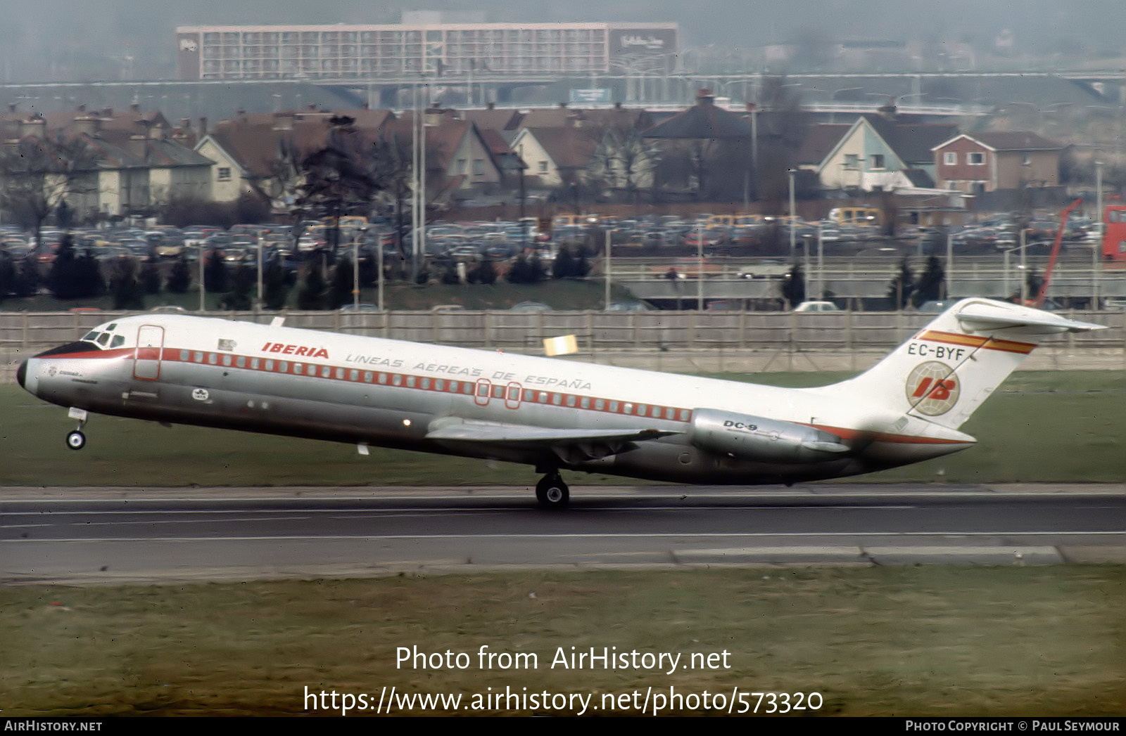
<path fill-rule="evenodd" d="M 182 26 L 179 77 L 583 77 L 672 71 L 677 24 Z"/>

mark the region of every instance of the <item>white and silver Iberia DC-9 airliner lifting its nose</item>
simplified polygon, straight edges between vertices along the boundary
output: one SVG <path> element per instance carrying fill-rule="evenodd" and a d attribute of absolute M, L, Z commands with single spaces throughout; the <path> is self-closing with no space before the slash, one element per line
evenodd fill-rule
<path fill-rule="evenodd" d="M 545 506 L 560 470 L 757 485 L 965 449 L 958 431 L 1045 336 L 1098 330 L 963 299 L 870 370 L 777 388 L 188 315 L 142 314 L 20 365 L 32 394 L 88 413 L 524 463 Z"/>

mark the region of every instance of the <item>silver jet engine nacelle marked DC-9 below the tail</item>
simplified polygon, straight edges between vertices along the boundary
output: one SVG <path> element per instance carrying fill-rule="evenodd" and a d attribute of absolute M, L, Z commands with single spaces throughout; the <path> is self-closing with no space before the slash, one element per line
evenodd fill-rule
<path fill-rule="evenodd" d="M 763 463 L 833 460 L 851 448 L 812 427 L 717 409 L 692 412 L 691 442 L 713 452 Z"/>

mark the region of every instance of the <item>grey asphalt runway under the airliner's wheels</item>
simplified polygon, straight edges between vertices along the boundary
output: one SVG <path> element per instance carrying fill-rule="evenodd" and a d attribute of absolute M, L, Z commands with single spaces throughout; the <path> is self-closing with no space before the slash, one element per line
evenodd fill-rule
<path fill-rule="evenodd" d="M 1126 563 L 1126 486 L 5 488 L 0 582 Z"/>

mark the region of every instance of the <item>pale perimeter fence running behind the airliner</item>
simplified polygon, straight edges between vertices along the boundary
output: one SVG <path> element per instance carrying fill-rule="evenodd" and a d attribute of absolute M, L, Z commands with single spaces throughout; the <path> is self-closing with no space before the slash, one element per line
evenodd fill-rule
<path fill-rule="evenodd" d="M 127 312 L 0 312 L 0 380 L 19 361 L 78 340 Z M 198 313 L 197 313 L 198 314 Z M 410 340 L 431 344 L 544 354 L 543 340 L 575 335 L 579 359 L 658 370 L 863 369 L 936 315 L 915 312 L 212 312 L 206 316 Z M 1126 367 L 1126 313 L 1069 312 L 1108 330 L 1051 338 L 1037 351 L 1081 353 L 1100 367 Z M 753 356 L 751 362 L 741 357 Z M 795 360 L 795 357 L 798 357 Z"/>

